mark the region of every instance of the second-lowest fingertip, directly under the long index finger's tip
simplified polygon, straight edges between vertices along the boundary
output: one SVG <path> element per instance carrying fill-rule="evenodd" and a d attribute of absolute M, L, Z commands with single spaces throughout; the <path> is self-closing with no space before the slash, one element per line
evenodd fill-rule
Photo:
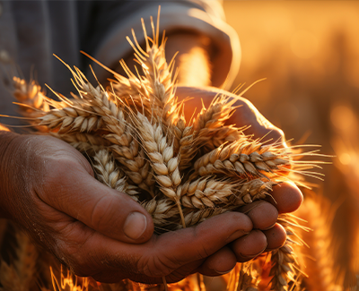
<path fill-rule="evenodd" d="M 260 230 L 252 230 L 249 235 L 245 235 L 231 244 L 237 261 L 250 261 L 264 252 L 267 248 L 267 237 Z"/>

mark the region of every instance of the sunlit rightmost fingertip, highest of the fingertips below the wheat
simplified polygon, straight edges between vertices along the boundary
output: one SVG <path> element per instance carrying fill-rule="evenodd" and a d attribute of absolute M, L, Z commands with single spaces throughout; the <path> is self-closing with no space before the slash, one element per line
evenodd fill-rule
<path fill-rule="evenodd" d="M 270 194 L 272 197 L 267 197 L 266 200 L 276 206 L 279 213 L 293 212 L 302 205 L 302 192 L 292 182 L 275 185 Z"/>

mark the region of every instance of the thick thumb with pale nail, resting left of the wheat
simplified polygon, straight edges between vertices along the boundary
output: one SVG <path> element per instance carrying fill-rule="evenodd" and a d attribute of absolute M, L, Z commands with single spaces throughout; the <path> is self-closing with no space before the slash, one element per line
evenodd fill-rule
<path fill-rule="evenodd" d="M 43 201 L 103 235 L 131 244 L 153 235 L 153 220 L 139 203 L 101 184 L 79 163 L 57 163 L 46 184 L 51 189 L 41 191 Z"/>

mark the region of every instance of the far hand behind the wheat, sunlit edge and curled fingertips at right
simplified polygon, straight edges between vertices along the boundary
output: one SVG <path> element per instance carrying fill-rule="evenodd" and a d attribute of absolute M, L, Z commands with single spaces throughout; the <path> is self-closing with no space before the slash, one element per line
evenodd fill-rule
<path fill-rule="evenodd" d="M 190 98 L 185 102 L 184 107 L 185 116 L 188 120 L 192 116 L 195 107 L 197 107 L 197 110 L 200 110 L 202 102 L 205 107 L 208 107 L 218 93 L 232 96 L 238 100 L 234 106 L 239 107 L 227 124 L 236 124 L 237 127 L 250 125 L 246 134 L 253 134 L 255 139 L 266 136 L 264 141 L 269 141 L 268 143 L 276 142 L 286 147 L 284 133 L 268 122 L 246 98 L 239 98 L 230 92 L 213 87 L 196 88 L 181 86 L 178 87 L 176 92 L 180 100 Z M 235 241 L 231 244 L 232 252 L 235 254 L 237 261 L 248 261 L 261 252 L 267 252 L 285 244 L 285 229 L 276 224 L 276 218 L 278 213 L 297 210 L 302 204 L 302 193 L 295 184 L 283 183 L 274 186 L 271 195 L 273 199 L 268 198 L 267 201 L 256 201 L 241 209 L 251 218 L 253 230 L 245 238 L 242 237 L 241 241 Z M 250 249 L 247 249 L 248 247 Z M 243 250 L 253 255 L 246 258 L 241 255 Z"/>

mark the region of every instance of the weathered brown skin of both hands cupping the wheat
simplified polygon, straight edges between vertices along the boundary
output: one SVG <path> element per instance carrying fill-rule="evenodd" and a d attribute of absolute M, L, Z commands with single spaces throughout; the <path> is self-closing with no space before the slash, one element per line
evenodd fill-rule
<path fill-rule="evenodd" d="M 186 105 L 191 111 L 200 108 L 199 98 L 208 103 L 215 96 L 214 89 L 183 87 L 177 92 L 180 98 L 195 97 Z M 247 100 L 240 103 L 231 123 L 251 124 L 256 136 L 271 131 L 268 136 L 283 141 L 283 133 Z M 0 148 L 0 217 L 17 222 L 76 275 L 101 282 L 130 278 L 161 283 L 166 276 L 171 283 L 194 272 L 221 275 L 237 261 L 284 244 L 278 213 L 296 210 L 302 203 L 298 188 L 285 183 L 274 187 L 276 202 L 257 201 L 246 214 L 225 213 L 197 227 L 154 235 L 150 215 L 126 194 L 95 180 L 91 165 L 66 142 L 3 133 Z M 144 216 L 139 223 L 145 222 L 137 238 L 124 230 L 133 212 Z"/>

